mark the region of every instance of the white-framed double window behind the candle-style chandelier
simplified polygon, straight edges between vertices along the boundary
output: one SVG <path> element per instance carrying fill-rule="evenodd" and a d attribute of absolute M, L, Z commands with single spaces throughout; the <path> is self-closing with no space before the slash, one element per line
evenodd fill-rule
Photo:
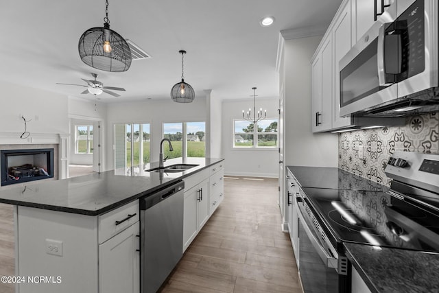
<path fill-rule="evenodd" d="M 256 124 L 243 119 L 233 121 L 233 148 L 277 148 L 278 119 L 263 119 Z"/>

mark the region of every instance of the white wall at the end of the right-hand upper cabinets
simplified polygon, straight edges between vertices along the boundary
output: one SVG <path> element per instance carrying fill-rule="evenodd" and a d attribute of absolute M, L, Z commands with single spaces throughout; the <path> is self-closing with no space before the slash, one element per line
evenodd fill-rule
<path fill-rule="evenodd" d="M 310 60 L 321 38 L 285 40 L 285 165 L 338 166 L 337 134 L 311 131 Z"/>

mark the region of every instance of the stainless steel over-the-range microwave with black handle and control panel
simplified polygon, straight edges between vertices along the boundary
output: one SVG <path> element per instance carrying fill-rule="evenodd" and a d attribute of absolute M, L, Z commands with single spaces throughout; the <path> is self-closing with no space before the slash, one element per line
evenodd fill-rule
<path fill-rule="evenodd" d="M 340 60 L 340 116 L 439 110 L 437 0 L 397 0 Z"/>

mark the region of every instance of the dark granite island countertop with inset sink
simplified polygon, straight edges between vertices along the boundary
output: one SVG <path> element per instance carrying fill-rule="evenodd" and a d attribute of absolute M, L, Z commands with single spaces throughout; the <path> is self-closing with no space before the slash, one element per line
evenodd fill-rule
<path fill-rule="evenodd" d="M 132 200 L 200 172 L 224 159 L 169 159 L 165 166 L 178 163 L 198 165 L 184 172 L 145 172 L 158 162 L 144 166 L 78 176 L 62 180 L 34 181 L 0 190 L 0 202 L 83 215 L 100 215 Z"/>

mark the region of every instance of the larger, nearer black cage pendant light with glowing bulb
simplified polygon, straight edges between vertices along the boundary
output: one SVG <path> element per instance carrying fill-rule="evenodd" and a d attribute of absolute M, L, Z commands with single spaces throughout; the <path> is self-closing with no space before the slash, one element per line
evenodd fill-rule
<path fill-rule="evenodd" d="M 92 27 L 80 37 L 78 50 L 81 60 L 104 71 L 127 71 L 131 66 L 131 50 L 120 34 L 110 30 L 108 0 L 105 3 L 104 27 Z"/>

